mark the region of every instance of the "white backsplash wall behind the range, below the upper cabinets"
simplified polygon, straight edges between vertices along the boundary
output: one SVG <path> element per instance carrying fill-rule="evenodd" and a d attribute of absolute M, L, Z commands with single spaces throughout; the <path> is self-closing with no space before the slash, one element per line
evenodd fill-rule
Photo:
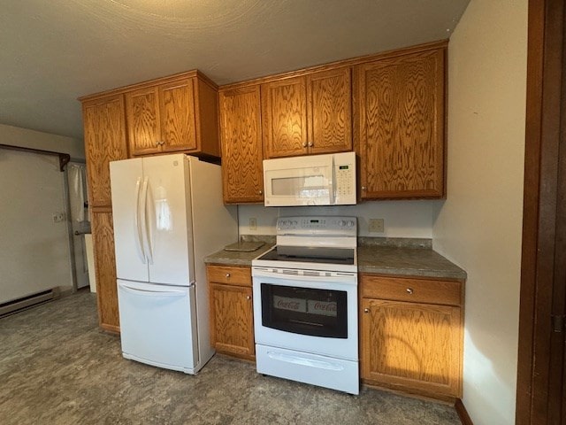
<path fill-rule="evenodd" d="M 275 235 L 275 225 L 279 216 L 349 215 L 357 217 L 358 236 L 431 239 L 434 214 L 442 202 L 438 200 L 379 201 L 358 205 L 280 208 L 264 205 L 239 205 L 239 232 L 240 235 Z M 370 233 L 370 219 L 383 219 L 384 232 Z"/>

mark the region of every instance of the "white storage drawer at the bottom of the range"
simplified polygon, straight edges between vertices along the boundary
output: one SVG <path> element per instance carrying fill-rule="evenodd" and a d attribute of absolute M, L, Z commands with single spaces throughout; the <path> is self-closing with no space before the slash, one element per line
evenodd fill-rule
<path fill-rule="evenodd" d="M 358 362 L 256 344 L 257 372 L 359 394 Z"/>

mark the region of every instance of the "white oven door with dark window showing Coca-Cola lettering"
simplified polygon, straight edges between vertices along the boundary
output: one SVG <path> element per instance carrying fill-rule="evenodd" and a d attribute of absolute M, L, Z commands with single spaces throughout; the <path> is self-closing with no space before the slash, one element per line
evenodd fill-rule
<path fill-rule="evenodd" d="M 356 273 L 323 274 L 254 267 L 256 344 L 357 360 Z"/>

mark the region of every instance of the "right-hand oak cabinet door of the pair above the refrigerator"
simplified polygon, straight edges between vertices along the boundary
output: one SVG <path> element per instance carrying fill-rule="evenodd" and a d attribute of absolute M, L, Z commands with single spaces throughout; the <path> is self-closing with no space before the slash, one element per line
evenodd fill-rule
<path fill-rule="evenodd" d="M 163 151 L 195 151 L 195 88 L 185 79 L 159 86 Z"/>

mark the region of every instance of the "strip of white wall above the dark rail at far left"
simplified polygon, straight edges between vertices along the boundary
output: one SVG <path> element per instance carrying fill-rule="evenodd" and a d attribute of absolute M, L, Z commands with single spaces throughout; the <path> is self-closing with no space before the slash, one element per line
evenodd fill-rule
<path fill-rule="evenodd" d="M 85 146 L 82 140 L 4 124 L 0 124 L 0 144 L 68 153 L 72 159 L 85 158 Z"/>

